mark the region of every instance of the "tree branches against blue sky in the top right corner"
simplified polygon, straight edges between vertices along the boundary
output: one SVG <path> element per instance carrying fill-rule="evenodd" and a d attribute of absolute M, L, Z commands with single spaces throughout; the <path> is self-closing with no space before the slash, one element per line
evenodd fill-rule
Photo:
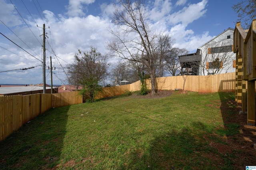
<path fill-rule="evenodd" d="M 232 8 L 238 14 L 237 22 L 242 22 L 244 28 L 248 29 L 252 20 L 256 18 L 256 0 L 242 0 Z"/>

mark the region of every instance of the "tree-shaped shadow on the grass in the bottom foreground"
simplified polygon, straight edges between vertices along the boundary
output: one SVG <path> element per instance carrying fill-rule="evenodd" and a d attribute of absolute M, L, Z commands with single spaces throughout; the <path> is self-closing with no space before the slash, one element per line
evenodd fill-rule
<path fill-rule="evenodd" d="M 214 159 L 208 154 L 216 153 L 217 150 L 209 147 L 200 134 L 194 134 L 194 130 L 207 131 L 203 123 L 193 122 L 191 125 L 193 130 L 183 128 L 156 135 L 148 149 L 136 148 L 130 162 L 120 169 L 209 169 Z M 135 162 L 140 167 L 134 167 Z"/>

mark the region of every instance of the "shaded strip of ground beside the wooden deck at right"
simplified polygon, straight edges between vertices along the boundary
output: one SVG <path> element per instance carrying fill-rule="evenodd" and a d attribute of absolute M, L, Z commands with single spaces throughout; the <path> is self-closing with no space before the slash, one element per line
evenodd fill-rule
<path fill-rule="evenodd" d="M 219 136 L 223 136 L 234 154 L 233 164 L 237 169 L 256 165 L 256 127 L 247 125 L 247 115 L 239 115 L 242 109 L 237 107 L 235 93 L 219 93 L 220 110 L 223 128 L 216 129 Z"/>

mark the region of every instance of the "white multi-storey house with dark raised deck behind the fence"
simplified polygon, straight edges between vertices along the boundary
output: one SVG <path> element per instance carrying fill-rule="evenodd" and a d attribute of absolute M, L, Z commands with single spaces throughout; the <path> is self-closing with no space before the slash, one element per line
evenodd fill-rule
<path fill-rule="evenodd" d="M 182 73 L 213 75 L 236 71 L 236 54 L 233 52 L 234 29 L 228 28 L 199 47 L 196 53 L 180 55 Z"/>

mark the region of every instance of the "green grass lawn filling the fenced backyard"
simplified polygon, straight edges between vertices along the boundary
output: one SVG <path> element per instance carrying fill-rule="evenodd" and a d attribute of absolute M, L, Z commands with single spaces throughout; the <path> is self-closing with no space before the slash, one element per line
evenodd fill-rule
<path fill-rule="evenodd" d="M 234 93 L 119 96 L 55 108 L 0 142 L 0 169 L 244 169 L 256 157 L 235 147 L 247 144 L 233 121 L 239 116 Z M 248 153 L 252 160 L 241 160 Z"/>

